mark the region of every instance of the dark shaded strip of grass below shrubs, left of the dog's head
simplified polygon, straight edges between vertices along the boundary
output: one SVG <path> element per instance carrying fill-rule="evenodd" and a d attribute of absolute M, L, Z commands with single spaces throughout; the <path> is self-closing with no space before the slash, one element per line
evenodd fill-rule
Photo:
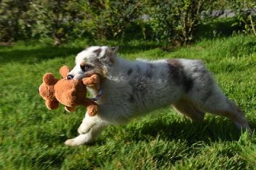
<path fill-rule="evenodd" d="M 35 63 L 44 59 L 66 57 L 70 54 L 77 54 L 81 48 L 68 47 L 42 47 L 39 49 L 13 49 L 0 51 L 0 63 Z"/>

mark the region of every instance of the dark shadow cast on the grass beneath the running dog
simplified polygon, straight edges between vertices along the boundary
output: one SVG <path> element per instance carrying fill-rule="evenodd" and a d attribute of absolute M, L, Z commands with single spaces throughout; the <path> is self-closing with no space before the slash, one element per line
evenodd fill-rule
<path fill-rule="evenodd" d="M 250 125 L 252 130 L 255 125 Z M 113 135 L 115 133 L 108 135 Z M 156 120 L 149 123 L 143 123 L 140 128 L 125 127 L 122 132 L 122 140 L 126 142 L 151 141 L 159 136 L 160 139 L 168 141 L 187 141 L 189 144 L 204 141 L 238 141 L 241 137 L 241 131 L 237 130 L 234 123 L 227 118 L 205 119 L 203 122 L 185 120 L 182 122 L 166 123 L 163 120 Z M 102 141 L 99 141 L 99 143 Z"/>

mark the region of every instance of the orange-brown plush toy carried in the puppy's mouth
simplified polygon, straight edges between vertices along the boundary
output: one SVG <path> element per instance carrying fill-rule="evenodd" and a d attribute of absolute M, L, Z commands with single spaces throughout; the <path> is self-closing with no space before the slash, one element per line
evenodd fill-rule
<path fill-rule="evenodd" d="M 45 73 L 43 83 L 39 87 L 39 93 L 44 98 L 48 109 L 54 110 L 59 107 L 59 103 L 65 105 L 68 112 L 76 111 L 78 105 L 86 107 L 89 116 L 95 116 L 99 111 L 99 105 L 93 102 L 93 99 L 86 98 L 86 86 L 99 86 L 99 76 L 92 75 L 83 79 L 67 80 L 67 74 L 70 69 L 67 66 L 60 68 L 60 74 L 63 79 L 58 80 L 52 73 Z M 97 97 L 101 95 L 98 94 Z"/>

